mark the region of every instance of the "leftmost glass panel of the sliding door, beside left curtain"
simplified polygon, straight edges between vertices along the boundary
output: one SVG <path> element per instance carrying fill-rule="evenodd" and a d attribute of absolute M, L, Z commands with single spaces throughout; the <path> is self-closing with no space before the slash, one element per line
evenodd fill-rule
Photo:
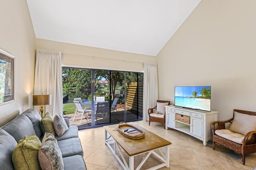
<path fill-rule="evenodd" d="M 91 112 L 83 113 L 84 107 L 91 109 L 91 70 L 62 67 L 63 116 L 70 119 L 70 125 L 79 128 L 90 127 Z M 76 106 L 73 101 L 78 101 Z"/>

